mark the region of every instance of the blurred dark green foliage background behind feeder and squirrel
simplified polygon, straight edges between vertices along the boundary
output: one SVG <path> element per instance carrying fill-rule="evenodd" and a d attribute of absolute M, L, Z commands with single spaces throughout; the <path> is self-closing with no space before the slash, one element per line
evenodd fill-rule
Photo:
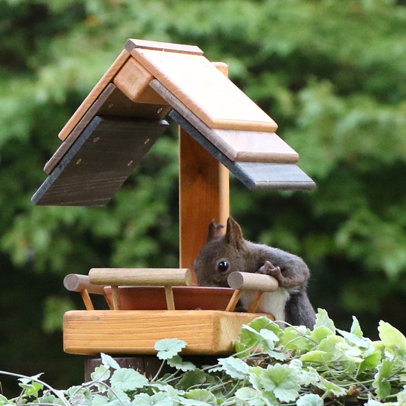
<path fill-rule="evenodd" d="M 302 256 L 336 325 L 406 332 L 406 1 L 0 1 L 0 369 L 81 382 L 65 274 L 178 266 L 175 125 L 105 208 L 36 207 L 57 134 L 127 38 L 198 45 L 279 124 L 314 192 L 231 179 L 245 237 Z M 193 224 L 191 224 L 193 226 Z M 3 380 L 3 391 L 9 388 Z"/>

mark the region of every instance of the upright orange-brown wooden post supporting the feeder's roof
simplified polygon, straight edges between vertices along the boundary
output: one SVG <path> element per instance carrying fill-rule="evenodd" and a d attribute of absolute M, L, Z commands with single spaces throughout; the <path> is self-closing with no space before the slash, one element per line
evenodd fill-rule
<path fill-rule="evenodd" d="M 217 68 L 227 75 L 227 65 Z M 229 172 L 192 136 L 180 129 L 179 248 L 180 267 L 193 269 L 212 219 L 226 225 L 230 214 Z M 196 283 L 196 277 L 193 276 Z"/>

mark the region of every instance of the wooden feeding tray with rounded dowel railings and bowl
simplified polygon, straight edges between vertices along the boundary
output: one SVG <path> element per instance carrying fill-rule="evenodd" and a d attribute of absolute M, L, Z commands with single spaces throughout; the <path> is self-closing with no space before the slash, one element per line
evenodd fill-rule
<path fill-rule="evenodd" d="M 260 286 L 269 292 L 278 287 L 272 276 L 245 274 L 244 279 L 243 272 L 233 274 L 238 277 L 231 285 L 237 289 L 182 286 L 191 282 L 190 270 L 102 268 L 88 276 L 70 274 L 65 287 L 81 292 L 87 310 L 65 313 L 64 350 L 155 354 L 157 341 L 179 338 L 187 343 L 184 354 L 230 354 L 242 325 L 263 315 L 255 312 L 262 292 L 254 296 L 247 313 L 233 312 L 242 290 Z M 261 279 L 255 289 L 252 283 L 250 288 L 252 277 Z M 104 295 L 110 310 L 95 310 L 89 292 Z M 267 317 L 273 320 L 272 315 Z"/>

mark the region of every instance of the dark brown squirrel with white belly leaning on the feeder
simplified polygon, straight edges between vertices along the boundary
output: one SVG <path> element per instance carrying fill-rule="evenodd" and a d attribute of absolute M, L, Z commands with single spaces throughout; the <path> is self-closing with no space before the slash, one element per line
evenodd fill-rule
<path fill-rule="evenodd" d="M 228 217 L 226 234 L 221 233 L 221 228 L 223 224 L 210 222 L 207 242 L 194 260 L 198 286 L 227 287 L 228 275 L 235 271 L 272 275 L 279 288 L 263 295 L 258 311 L 274 315 L 277 321 L 313 329 L 315 311 L 306 293 L 310 271 L 304 260 L 281 249 L 244 240 L 233 217 Z M 252 297 L 253 292 L 242 292 L 244 309 Z M 285 323 L 279 325 L 285 327 Z"/>

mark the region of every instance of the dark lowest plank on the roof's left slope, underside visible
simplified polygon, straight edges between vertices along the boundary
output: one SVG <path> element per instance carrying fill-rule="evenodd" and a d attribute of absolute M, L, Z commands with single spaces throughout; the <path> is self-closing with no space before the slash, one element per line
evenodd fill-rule
<path fill-rule="evenodd" d="M 37 205 L 105 205 L 168 124 L 96 116 L 31 198 Z"/>

